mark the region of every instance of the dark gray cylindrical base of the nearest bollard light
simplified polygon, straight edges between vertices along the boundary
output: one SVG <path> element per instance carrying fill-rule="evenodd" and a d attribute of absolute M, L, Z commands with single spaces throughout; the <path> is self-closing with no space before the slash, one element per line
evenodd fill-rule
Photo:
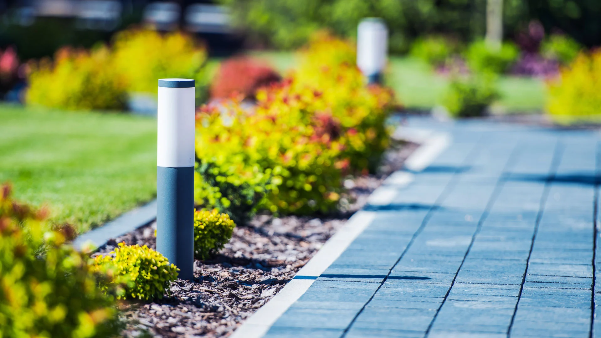
<path fill-rule="evenodd" d="M 156 169 L 156 250 L 194 280 L 194 167 Z"/>

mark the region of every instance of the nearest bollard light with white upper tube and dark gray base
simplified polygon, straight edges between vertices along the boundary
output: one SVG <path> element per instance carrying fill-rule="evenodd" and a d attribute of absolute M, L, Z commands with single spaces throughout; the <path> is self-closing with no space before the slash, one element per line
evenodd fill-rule
<path fill-rule="evenodd" d="M 184 280 L 194 279 L 194 99 L 194 80 L 159 80 L 156 249 Z"/>

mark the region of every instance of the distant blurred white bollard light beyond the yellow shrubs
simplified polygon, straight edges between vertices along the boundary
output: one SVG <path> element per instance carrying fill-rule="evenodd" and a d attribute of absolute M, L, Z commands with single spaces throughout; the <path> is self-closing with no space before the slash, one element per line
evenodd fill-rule
<path fill-rule="evenodd" d="M 380 82 L 388 54 L 388 29 L 382 19 L 368 17 L 357 28 L 357 66 L 368 83 Z"/>

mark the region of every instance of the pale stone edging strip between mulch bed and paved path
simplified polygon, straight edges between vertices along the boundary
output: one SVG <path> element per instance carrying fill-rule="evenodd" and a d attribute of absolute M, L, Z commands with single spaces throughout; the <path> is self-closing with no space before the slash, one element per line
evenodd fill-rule
<path fill-rule="evenodd" d="M 424 170 L 451 144 L 449 134 L 435 133 L 424 129 L 397 128 L 393 138 L 421 144 L 404 162 L 404 166 L 408 170 L 415 172 Z M 374 206 L 389 204 L 397 196 L 398 189 L 409 185 L 411 182 L 413 182 L 413 174 L 410 172 L 397 171 L 392 173 L 383 182 L 382 186 L 370 195 L 368 203 Z M 230 337 L 263 337 L 279 317 L 307 292 L 317 277 L 340 257 L 375 217 L 376 212 L 373 211 L 359 210 L 356 212 L 275 297 L 258 309 L 254 315 L 246 319 Z"/>

